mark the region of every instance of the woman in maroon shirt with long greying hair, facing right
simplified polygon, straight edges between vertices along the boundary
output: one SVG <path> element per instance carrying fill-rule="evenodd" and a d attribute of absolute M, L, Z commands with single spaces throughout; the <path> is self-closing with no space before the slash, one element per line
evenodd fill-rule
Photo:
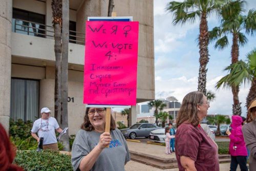
<path fill-rule="evenodd" d="M 218 146 L 200 126 L 208 108 L 209 102 L 201 92 L 190 92 L 182 101 L 175 141 L 179 170 L 220 170 Z"/>

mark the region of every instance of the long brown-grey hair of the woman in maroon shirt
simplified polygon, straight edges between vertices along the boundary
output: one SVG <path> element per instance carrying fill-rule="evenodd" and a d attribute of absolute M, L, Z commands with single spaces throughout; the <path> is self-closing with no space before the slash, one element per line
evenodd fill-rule
<path fill-rule="evenodd" d="M 183 122 L 191 123 L 194 126 L 199 124 L 197 105 L 203 103 L 204 94 L 202 92 L 190 92 L 182 101 L 176 125 L 179 127 Z"/>

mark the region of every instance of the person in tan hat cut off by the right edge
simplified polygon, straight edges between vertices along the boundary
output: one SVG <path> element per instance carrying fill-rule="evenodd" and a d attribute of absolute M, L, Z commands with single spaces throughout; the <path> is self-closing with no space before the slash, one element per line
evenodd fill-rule
<path fill-rule="evenodd" d="M 256 100 L 254 99 L 249 108 L 246 124 L 242 127 L 244 140 L 249 149 L 249 169 L 256 171 Z"/>

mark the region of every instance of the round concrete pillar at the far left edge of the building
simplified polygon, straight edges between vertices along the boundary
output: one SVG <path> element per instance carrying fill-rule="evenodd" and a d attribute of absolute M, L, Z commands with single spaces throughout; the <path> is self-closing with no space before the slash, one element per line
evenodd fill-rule
<path fill-rule="evenodd" d="M 12 1 L 0 0 L 0 122 L 9 131 Z"/>

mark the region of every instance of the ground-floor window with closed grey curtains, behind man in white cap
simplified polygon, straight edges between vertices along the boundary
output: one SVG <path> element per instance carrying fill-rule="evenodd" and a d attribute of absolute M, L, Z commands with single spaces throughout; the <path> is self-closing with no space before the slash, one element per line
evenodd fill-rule
<path fill-rule="evenodd" d="M 11 79 L 11 114 L 17 119 L 36 120 L 39 108 L 39 81 L 28 79 Z"/>

